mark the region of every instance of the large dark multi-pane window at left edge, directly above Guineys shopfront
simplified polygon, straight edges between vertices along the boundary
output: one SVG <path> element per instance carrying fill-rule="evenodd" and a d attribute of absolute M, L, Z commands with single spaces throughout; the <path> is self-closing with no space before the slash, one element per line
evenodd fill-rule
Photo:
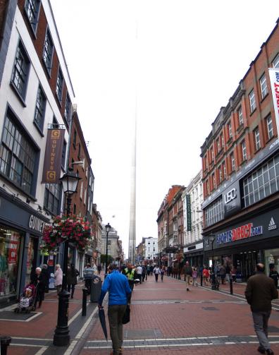
<path fill-rule="evenodd" d="M 6 116 L 0 147 L 0 172 L 26 193 L 34 194 L 37 151 L 23 136 L 11 112 Z"/>

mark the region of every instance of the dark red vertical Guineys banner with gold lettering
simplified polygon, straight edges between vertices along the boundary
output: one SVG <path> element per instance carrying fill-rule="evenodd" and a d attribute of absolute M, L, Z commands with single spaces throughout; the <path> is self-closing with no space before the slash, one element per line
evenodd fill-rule
<path fill-rule="evenodd" d="M 42 183 L 59 183 L 65 129 L 49 129 L 44 153 Z"/>

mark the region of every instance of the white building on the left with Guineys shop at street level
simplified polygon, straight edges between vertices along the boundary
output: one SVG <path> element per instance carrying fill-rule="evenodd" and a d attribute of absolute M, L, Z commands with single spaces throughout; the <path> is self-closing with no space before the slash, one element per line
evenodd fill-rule
<path fill-rule="evenodd" d="M 0 41 L 0 303 L 16 298 L 46 261 L 42 230 L 63 206 L 61 184 L 41 183 L 46 136 L 48 128 L 65 129 L 62 176 L 75 97 L 49 1 L 9 1 L 7 13 Z"/>

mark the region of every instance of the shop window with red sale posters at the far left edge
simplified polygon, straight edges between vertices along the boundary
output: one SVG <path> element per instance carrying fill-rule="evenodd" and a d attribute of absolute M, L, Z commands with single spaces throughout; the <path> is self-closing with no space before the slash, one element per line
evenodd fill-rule
<path fill-rule="evenodd" d="M 17 231 L 0 226 L 0 296 L 16 294 L 20 240 Z"/>

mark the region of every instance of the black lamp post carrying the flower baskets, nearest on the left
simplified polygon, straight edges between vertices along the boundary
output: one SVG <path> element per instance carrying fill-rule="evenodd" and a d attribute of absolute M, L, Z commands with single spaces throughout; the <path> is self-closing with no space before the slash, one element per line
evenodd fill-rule
<path fill-rule="evenodd" d="M 74 174 L 73 169 L 68 169 L 68 172 L 61 177 L 61 183 L 64 193 L 67 194 L 66 213 L 70 215 L 71 196 L 77 191 L 77 184 L 80 177 Z M 56 330 L 54 332 L 54 345 L 56 347 L 66 347 L 70 343 L 70 335 L 68 328 L 68 306 L 70 293 L 67 291 L 67 268 L 68 268 L 68 240 L 64 242 L 63 250 L 63 282 L 62 291 L 59 293 L 58 300 L 58 318 Z"/>

